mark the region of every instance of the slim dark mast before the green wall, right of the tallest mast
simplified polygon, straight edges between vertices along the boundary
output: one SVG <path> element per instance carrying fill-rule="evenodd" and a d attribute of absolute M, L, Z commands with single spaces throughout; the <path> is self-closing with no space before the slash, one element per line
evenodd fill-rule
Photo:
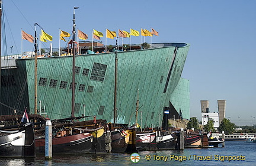
<path fill-rule="evenodd" d="M 105 46 L 107 47 L 107 45 Z M 117 118 L 117 38 L 116 38 L 116 58 L 115 58 L 115 80 L 114 80 L 114 127 L 116 126 Z"/>

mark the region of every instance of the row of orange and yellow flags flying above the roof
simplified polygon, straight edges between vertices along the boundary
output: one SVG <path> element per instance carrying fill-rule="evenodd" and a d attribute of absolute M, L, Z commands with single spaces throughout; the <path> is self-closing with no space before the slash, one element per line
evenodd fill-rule
<path fill-rule="evenodd" d="M 30 41 L 31 43 L 34 42 L 34 38 L 33 38 L 32 35 L 27 34 L 23 30 L 21 30 L 21 33 L 22 33 L 22 38 L 24 40 Z M 152 37 L 153 35 L 158 36 L 158 32 L 156 30 L 154 30 L 153 28 L 151 28 L 151 31 L 141 29 L 140 32 L 136 31 L 136 30 L 133 30 L 133 29 L 130 29 L 130 32 L 127 32 L 127 31 L 124 31 L 124 30 L 119 30 L 118 31 L 119 37 L 123 37 L 123 38 L 129 38 L 131 35 L 137 37 L 140 34 L 142 36 L 150 36 L 150 37 Z M 66 41 L 65 37 L 70 37 L 70 36 L 71 36 L 71 34 L 69 34 L 68 32 L 60 30 L 60 40 Z M 100 31 L 97 31 L 97 30 L 92 31 L 92 37 L 95 38 L 96 40 L 100 40 L 100 38 L 103 37 L 103 36 L 104 36 L 103 33 L 100 32 Z M 80 30 L 78 30 L 78 37 L 81 40 L 87 40 L 88 39 L 88 35 L 85 34 L 82 31 L 80 31 Z M 110 31 L 110 30 L 106 29 L 105 37 L 113 39 L 114 37 L 117 37 L 117 33 L 116 33 L 116 31 Z M 46 32 L 44 32 L 43 30 L 41 30 L 41 34 L 40 34 L 39 39 L 40 39 L 40 41 L 47 42 L 47 40 L 52 41 L 53 37 L 52 37 L 52 35 L 49 35 Z"/>

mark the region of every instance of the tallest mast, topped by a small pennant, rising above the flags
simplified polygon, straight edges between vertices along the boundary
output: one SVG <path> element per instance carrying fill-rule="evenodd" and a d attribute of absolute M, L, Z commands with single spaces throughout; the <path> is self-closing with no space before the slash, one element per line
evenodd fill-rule
<path fill-rule="evenodd" d="M 75 117 L 75 34 L 76 34 L 76 25 L 75 25 L 75 9 L 78 9 L 79 7 L 73 8 L 73 74 L 72 74 L 72 112 L 71 112 L 71 118 Z"/>

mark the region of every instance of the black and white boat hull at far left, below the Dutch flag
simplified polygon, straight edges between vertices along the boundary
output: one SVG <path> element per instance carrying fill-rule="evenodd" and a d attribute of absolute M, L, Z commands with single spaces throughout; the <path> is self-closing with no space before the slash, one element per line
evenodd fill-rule
<path fill-rule="evenodd" d="M 28 124 L 15 134 L 0 136 L 0 157 L 35 157 L 33 126 Z"/>

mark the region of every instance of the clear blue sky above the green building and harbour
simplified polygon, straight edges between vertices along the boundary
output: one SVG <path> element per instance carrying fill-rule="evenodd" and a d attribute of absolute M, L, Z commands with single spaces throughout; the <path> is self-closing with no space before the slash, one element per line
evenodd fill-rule
<path fill-rule="evenodd" d="M 256 124 L 256 1 L 39 1 L 2 0 L 6 47 L 2 54 L 21 53 L 21 29 L 34 35 L 39 24 L 59 47 L 59 29 L 72 32 L 73 7 L 76 28 L 88 34 L 119 29 L 154 28 L 152 43 L 190 44 L 181 77 L 190 80 L 190 116 L 201 121 L 200 100 L 209 100 L 217 112 L 217 100 L 226 100 L 226 118 L 236 125 Z M 36 27 L 37 32 L 40 28 Z M 2 30 L 3 34 L 3 30 Z M 132 37 L 132 43 L 140 43 Z M 105 44 L 105 38 L 101 41 Z M 142 38 L 144 41 L 144 38 Z M 129 44 L 129 39 L 124 39 Z M 150 43 L 150 37 L 145 37 Z M 33 44 L 23 40 L 23 51 Z M 108 39 L 107 44 L 115 44 Z M 61 41 L 61 47 L 66 43 Z M 13 46 L 11 48 L 11 46 Z M 255 117 L 255 118 L 254 118 Z"/>

